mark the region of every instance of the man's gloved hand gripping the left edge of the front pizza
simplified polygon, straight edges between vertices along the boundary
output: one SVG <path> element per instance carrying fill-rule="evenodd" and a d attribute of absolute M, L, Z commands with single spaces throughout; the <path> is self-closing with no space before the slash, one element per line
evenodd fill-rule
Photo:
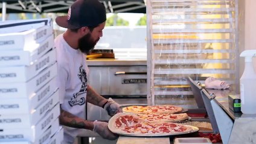
<path fill-rule="evenodd" d="M 118 138 L 117 134 L 112 133 L 107 127 L 107 122 L 94 121 L 94 130 L 100 134 L 103 139 L 115 140 Z"/>

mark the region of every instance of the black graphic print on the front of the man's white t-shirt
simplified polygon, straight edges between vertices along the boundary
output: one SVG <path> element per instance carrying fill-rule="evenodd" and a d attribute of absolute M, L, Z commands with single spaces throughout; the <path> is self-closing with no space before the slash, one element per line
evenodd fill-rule
<path fill-rule="evenodd" d="M 78 78 L 82 82 L 82 86 L 80 88 L 80 91 L 73 94 L 73 97 L 71 98 L 70 101 L 68 101 L 70 106 L 74 105 L 83 105 L 85 104 L 85 94 L 87 92 L 87 77 L 86 77 L 86 71 L 83 69 L 83 65 L 79 67 L 79 71 L 77 74 Z"/>

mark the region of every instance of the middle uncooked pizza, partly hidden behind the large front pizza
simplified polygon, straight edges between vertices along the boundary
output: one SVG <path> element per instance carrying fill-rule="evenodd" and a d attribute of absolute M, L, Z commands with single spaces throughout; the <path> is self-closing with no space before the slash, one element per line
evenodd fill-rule
<path fill-rule="evenodd" d="M 146 113 L 137 115 L 139 118 L 146 119 L 147 121 L 180 122 L 188 119 L 187 113 Z"/>

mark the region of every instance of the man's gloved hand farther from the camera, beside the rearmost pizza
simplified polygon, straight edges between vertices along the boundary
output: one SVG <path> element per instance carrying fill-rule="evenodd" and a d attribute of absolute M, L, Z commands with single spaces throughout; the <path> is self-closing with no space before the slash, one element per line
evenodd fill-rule
<path fill-rule="evenodd" d="M 107 100 L 107 103 L 105 104 L 104 109 L 107 110 L 107 113 L 110 116 L 114 116 L 116 113 L 123 112 L 123 110 L 121 109 L 121 106 L 118 103 L 116 103 L 114 100 L 112 100 L 112 98 L 109 98 L 109 100 Z"/>

